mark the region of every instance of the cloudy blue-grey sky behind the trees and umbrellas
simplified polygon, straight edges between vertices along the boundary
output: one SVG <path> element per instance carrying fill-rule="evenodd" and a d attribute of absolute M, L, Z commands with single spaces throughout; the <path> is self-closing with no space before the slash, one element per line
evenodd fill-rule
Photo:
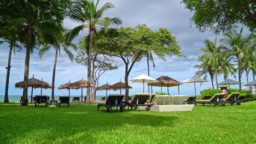
<path fill-rule="evenodd" d="M 101 0 L 100 6 L 108 1 Z M 123 20 L 123 27 L 135 27 L 139 24 L 146 24 L 152 31 L 158 31 L 159 27 L 166 27 L 171 31 L 173 35 L 176 36 L 179 45 L 181 45 L 181 51 L 186 56 L 181 57 L 166 57 L 166 62 L 161 61 L 157 57 L 154 57 L 156 68 L 154 69 L 152 64 L 150 65 L 150 76 L 157 79 L 160 76 L 169 76 L 178 81 L 184 81 L 194 76 L 197 69 L 194 69 L 197 62 L 197 57 L 202 53 L 198 52 L 198 49 L 205 47 L 203 41 L 206 39 L 214 40 L 216 37 L 218 39 L 222 38 L 221 35 L 214 35 L 211 32 L 199 33 L 196 29 L 190 28 L 189 18 L 193 16 L 188 9 L 184 8 L 184 5 L 180 1 L 172 0 L 161 0 L 161 1 L 148 1 L 148 0 L 111 0 L 115 5 L 114 9 L 110 9 L 105 14 L 108 17 L 120 17 Z M 71 29 L 78 26 L 79 23 L 75 23 L 66 19 L 64 21 L 65 27 Z M 245 35 L 248 31 L 245 31 Z M 77 38 L 73 41 L 78 42 L 80 37 L 88 35 L 88 30 L 81 32 Z M 0 45 L 0 95 L 4 95 L 5 80 L 8 64 L 8 44 Z M 77 52 L 73 51 L 74 55 L 77 56 Z M 31 78 L 34 74 L 36 79 L 43 79 L 44 81 L 51 83 L 53 75 L 55 51 L 51 49 L 46 52 L 42 59 L 38 57 L 38 51 L 34 51 L 30 58 L 30 73 Z M 119 64 L 123 64 L 119 61 Z M 25 50 L 21 52 L 16 52 L 16 55 L 11 57 L 11 72 L 10 72 L 10 82 L 9 82 L 9 95 L 22 95 L 22 89 L 15 88 L 15 83 L 23 81 L 24 79 L 24 65 L 25 65 Z M 123 64 L 124 65 L 124 64 Z M 59 87 L 63 83 L 67 83 L 69 80 L 71 82 L 78 81 L 84 77 L 87 79 L 87 68 L 84 65 L 80 65 L 75 62 L 69 61 L 65 52 L 61 51 L 61 56 L 57 58 L 56 66 L 56 77 L 55 85 Z M 124 82 L 125 69 L 120 67 L 115 71 L 108 71 L 100 79 L 100 85 L 105 84 L 107 81 L 110 85 L 120 81 Z M 141 74 L 147 74 L 147 63 L 146 59 L 141 62 L 136 62 L 131 70 L 129 79 L 136 77 Z M 234 79 L 234 77 L 229 77 Z M 252 75 L 249 74 L 249 80 L 252 80 Z M 210 81 L 210 79 L 209 79 Z M 223 76 L 220 75 L 219 82 L 223 81 Z M 242 75 L 242 82 L 246 83 L 246 76 Z M 130 95 L 134 93 L 143 92 L 142 83 L 132 83 L 129 82 L 133 88 L 130 90 Z M 200 83 L 196 83 L 197 94 L 201 90 L 207 89 L 211 86 L 211 82 L 205 82 L 200 87 Z M 238 86 L 232 86 L 232 88 L 238 88 Z M 177 87 L 171 87 L 169 89 L 170 94 L 178 94 Z M 159 87 L 153 87 L 153 92 L 160 91 Z M 184 83 L 180 86 L 181 94 L 193 95 L 194 85 L 192 83 Z M 163 92 L 167 92 L 167 88 L 163 88 Z M 31 93 L 31 88 L 28 88 L 28 95 Z M 40 90 L 34 90 L 34 94 L 39 94 Z M 119 93 L 118 91 L 111 91 L 109 93 Z M 124 93 L 124 92 L 123 92 Z M 43 90 L 43 94 L 51 95 L 51 89 Z M 67 95 L 66 90 L 58 90 L 55 88 L 56 95 Z M 80 95 L 80 90 L 71 90 L 71 95 Z M 97 95 L 104 95 L 105 91 L 98 91 Z M 86 91 L 84 91 L 86 95 Z"/>

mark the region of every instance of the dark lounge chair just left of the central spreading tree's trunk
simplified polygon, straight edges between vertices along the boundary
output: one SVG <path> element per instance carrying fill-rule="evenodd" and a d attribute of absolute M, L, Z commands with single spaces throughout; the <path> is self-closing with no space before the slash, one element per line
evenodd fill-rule
<path fill-rule="evenodd" d="M 124 94 L 109 94 L 105 104 L 98 104 L 98 110 L 101 106 L 104 106 L 107 107 L 107 112 L 110 112 L 112 107 L 117 107 L 117 110 L 120 107 L 120 112 L 123 112 L 125 105 L 121 101 L 124 99 L 124 96 Z"/>

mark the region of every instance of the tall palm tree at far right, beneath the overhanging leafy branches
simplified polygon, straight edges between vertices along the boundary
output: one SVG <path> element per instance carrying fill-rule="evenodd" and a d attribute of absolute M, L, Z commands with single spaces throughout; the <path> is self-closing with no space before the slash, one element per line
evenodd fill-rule
<path fill-rule="evenodd" d="M 228 47 L 224 47 L 223 50 L 229 54 L 232 59 L 236 59 L 238 66 L 238 79 L 241 82 L 241 58 L 245 55 L 245 50 L 249 45 L 252 45 L 253 38 L 255 38 L 254 34 L 249 34 L 247 37 L 243 37 L 242 35 L 243 28 L 241 28 L 240 32 L 232 30 L 225 35 L 226 38 L 221 39 L 220 41 L 225 42 Z M 241 89 L 241 84 L 239 85 Z"/>

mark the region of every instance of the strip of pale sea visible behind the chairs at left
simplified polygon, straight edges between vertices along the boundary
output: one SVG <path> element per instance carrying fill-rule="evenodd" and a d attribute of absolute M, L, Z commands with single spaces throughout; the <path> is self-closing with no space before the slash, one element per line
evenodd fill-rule
<path fill-rule="evenodd" d="M 58 100 L 59 96 L 60 95 L 54 95 L 54 99 Z M 81 95 L 71 95 L 70 96 L 70 100 L 72 100 L 74 96 L 75 97 L 79 96 L 80 97 L 80 101 L 81 101 Z M 8 98 L 9 98 L 10 102 L 18 102 L 18 101 L 20 101 L 20 97 L 22 97 L 22 95 L 8 95 Z M 50 95 L 49 95 L 49 97 L 50 97 L 50 100 L 51 100 L 51 96 Z M 100 100 L 101 97 L 106 97 L 106 95 L 96 95 L 95 100 Z M 30 99 L 31 99 L 31 95 L 28 95 L 28 100 L 30 100 Z M 0 101 L 4 101 L 4 95 L 0 95 Z M 84 101 L 84 96 L 83 96 L 83 101 Z"/>

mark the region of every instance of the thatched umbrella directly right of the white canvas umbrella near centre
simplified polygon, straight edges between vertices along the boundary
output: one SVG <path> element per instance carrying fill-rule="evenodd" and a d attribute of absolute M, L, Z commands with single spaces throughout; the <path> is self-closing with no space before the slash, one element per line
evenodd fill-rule
<path fill-rule="evenodd" d="M 179 93 L 179 85 L 182 85 L 181 82 L 174 80 L 168 76 L 161 76 L 161 77 L 158 77 L 158 79 L 156 79 L 156 80 L 158 80 L 159 82 L 148 83 L 148 85 L 161 87 L 161 92 L 162 92 L 162 87 L 167 87 L 168 94 L 169 94 L 169 87 L 178 86 L 178 93 Z"/>

